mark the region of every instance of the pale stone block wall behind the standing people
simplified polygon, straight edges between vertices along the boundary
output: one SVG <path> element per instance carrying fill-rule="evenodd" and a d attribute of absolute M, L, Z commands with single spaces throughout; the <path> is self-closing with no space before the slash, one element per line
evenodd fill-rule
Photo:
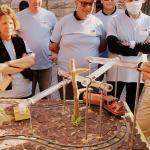
<path fill-rule="evenodd" d="M 16 12 L 21 0 L 0 0 L 0 4 L 8 4 Z M 43 7 L 51 10 L 58 18 L 74 11 L 74 0 L 43 0 Z"/>

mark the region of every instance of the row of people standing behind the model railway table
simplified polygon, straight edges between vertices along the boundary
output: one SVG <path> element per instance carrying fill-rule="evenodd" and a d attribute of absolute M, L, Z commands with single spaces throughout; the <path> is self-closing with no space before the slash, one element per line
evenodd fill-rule
<path fill-rule="evenodd" d="M 0 83 L 5 81 L 6 88 L 0 87 L 0 98 L 35 95 L 37 83 L 40 91 L 49 88 L 55 60 L 59 69 L 66 72 L 71 58 L 79 68 L 88 67 L 89 56 L 143 61 L 150 53 L 150 17 L 141 11 L 145 0 L 124 0 L 122 10 L 117 8 L 117 0 L 100 1 L 102 10 L 93 14 L 95 0 L 75 0 L 75 11 L 59 21 L 53 12 L 42 8 L 42 0 L 28 0 L 17 14 L 7 5 L 1 5 Z M 97 65 L 93 65 L 92 70 L 96 69 Z M 150 71 L 143 71 L 144 77 L 149 78 Z M 57 76 L 58 81 L 63 79 Z M 118 98 L 126 86 L 126 101 L 131 111 L 134 111 L 137 76 L 137 71 L 119 67 L 106 74 L 107 82 L 113 86 L 117 80 Z M 140 93 L 143 86 L 141 80 Z M 73 99 L 71 84 L 67 93 L 66 98 Z M 62 90 L 60 95 L 62 98 Z"/>

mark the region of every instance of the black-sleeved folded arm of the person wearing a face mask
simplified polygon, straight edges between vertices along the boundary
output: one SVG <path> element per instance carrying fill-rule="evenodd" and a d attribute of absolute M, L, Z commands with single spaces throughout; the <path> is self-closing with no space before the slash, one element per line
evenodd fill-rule
<path fill-rule="evenodd" d="M 148 40 L 143 43 L 135 41 L 121 41 L 117 34 L 117 18 L 112 18 L 108 24 L 107 42 L 110 52 L 123 56 L 137 56 L 139 52 L 149 54 L 150 42 Z"/>

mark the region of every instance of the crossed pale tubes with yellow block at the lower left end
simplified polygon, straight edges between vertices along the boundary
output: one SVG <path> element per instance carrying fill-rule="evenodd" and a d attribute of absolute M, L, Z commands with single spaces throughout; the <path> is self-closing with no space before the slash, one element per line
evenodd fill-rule
<path fill-rule="evenodd" d="M 100 75 L 102 75 L 105 71 L 107 71 L 108 69 L 110 69 L 114 64 L 116 64 L 118 62 L 118 58 L 114 58 L 112 60 L 110 60 L 108 63 L 106 63 L 103 67 L 99 68 L 98 70 L 96 70 L 95 72 L 93 72 L 92 74 L 86 76 L 86 77 L 82 77 L 79 74 L 83 73 L 85 71 L 87 71 L 87 68 L 78 68 L 75 71 L 73 71 L 75 69 L 75 65 L 73 65 L 74 61 L 72 60 L 72 65 L 70 65 L 71 68 L 71 76 L 69 73 L 66 72 L 61 72 L 61 74 L 63 74 L 65 77 L 67 77 L 66 79 L 64 79 L 63 81 L 59 82 L 58 84 L 51 86 L 50 88 L 37 93 L 35 96 L 28 98 L 28 99 L 24 99 L 21 100 L 19 107 L 15 107 L 14 108 L 14 114 L 15 114 L 15 119 L 16 120 L 24 120 L 24 119 L 29 119 L 30 118 L 30 112 L 29 112 L 29 106 L 31 104 L 35 104 L 36 102 L 38 102 L 40 99 L 42 99 L 43 97 L 50 95 L 51 93 L 53 93 L 54 91 L 58 90 L 59 88 L 69 84 L 71 82 L 71 80 L 73 81 L 73 83 L 75 83 L 76 81 L 81 82 L 81 84 L 86 87 L 87 85 L 91 85 L 93 87 L 96 88 L 101 88 L 101 89 L 105 89 L 105 91 L 109 92 L 112 90 L 112 85 L 107 84 L 107 83 L 103 83 L 100 81 L 95 81 L 95 79 L 97 77 L 99 77 Z M 74 78 L 74 73 L 76 74 L 76 77 Z M 75 84 L 73 85 L 74 88 L 76 88 Z M 78 97 L 78 95 L 80 93 L 82 93 L 83 91 L 85 91 L 85 89 L 83 90 L 78 90 L 78 92 L 74 92 L 75 97 Z M 76 105 L 77 102 L 75 101 Z M 75 110 L 77 111 L 77 110 Z M 78 114 L 78 111 L 75 112 L 75 114 Z"/>

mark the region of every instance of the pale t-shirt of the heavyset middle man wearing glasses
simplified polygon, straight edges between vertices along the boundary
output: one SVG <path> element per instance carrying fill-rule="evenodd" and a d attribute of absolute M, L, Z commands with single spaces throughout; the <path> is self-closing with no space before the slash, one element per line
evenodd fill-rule
<path fill-rule="evenodd" d="M 62 18 L 55 26 L 51 41 L 58 43 L 59 68 L 69 71 L 71 58 L 76 67 L 88 67 L 87 57 L 99 56 L 101 39 L 105 38 L 102 22 L 94 15 L 77 20 L 73 14 Z"/>

